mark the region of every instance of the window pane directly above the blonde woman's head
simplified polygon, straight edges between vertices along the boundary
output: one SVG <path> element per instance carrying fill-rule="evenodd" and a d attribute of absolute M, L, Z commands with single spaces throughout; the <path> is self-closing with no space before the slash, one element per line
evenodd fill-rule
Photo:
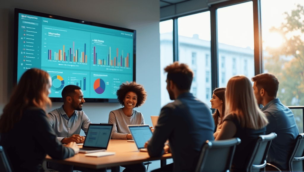
<path fill-rule="evenodd" d="M 236 74 L 246 75 L 249 79 L 254 76 L 252 6 L 252 2 L 245 2 L 217 10 L 219 87 L 226 87 Z"/>

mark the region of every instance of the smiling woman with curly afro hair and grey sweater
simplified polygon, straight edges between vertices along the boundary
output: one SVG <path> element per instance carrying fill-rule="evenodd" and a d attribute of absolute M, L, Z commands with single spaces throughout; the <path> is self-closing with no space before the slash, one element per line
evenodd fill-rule
<path fill-rule="evenodd" d="M 132 139 L 127 125 L 145 124 L 143 114 L 134 108 L 144 104 L 147 92 L 142 85 L 134 81 L 121 84 L 116 95 L 123 108 L 111 111 L 109 114 L 109 124 L 113 124 L 112 139 Z M 123 171 L 146 171 L 143 163 L 122 167 L 126 167 Z"/>

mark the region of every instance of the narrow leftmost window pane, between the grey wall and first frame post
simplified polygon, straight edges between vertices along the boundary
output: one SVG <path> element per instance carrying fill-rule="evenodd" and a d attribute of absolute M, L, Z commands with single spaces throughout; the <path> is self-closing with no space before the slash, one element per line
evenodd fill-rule
<path fill-rule="evenodd" d="M 164 67 L 173 63 L 173 20 L 159 23 L 159 33 L 161 41 L 161 106 L 166 105 L 171 100 L 167 92 L 167 74 Z"/>

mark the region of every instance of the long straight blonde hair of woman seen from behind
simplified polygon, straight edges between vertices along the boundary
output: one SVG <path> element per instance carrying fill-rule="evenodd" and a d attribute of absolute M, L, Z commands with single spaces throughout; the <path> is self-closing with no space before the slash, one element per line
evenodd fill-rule
<path fill-rule="evenodd" d="M 254 97 L 250 80 L 243 76 L 230 78 L 227 84 L 225 114 L 236 114 L 241 127 L 261 129 L 268 124 Z"/>

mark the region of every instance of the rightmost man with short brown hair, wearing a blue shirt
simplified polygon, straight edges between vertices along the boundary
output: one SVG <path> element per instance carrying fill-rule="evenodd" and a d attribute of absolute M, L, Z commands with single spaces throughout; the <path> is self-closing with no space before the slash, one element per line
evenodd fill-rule
<path fill-rule="evenodd" d="M 258 74 L 252 77 L 254 81 L 254 95 L 258 104 L 264 107 L 269 124 L 266 134 L 275 132 L 278 136 L 272 140 L 268 151 L 267 162 L 277 166 L 280 170 L 288 170 L 288 157 L 299 135 L 292 111 L 283 105 L 277 97 L 279 81 L 273 74 Z"/>

